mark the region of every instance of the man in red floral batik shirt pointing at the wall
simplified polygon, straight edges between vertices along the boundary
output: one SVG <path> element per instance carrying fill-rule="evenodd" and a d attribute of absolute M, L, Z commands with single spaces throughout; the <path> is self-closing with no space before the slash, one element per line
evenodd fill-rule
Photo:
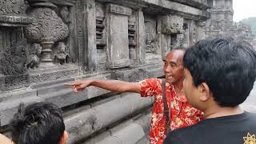
<path fill-rule="evenodd" d="M 183 91 L 184 68 L 183 55 L 185 49 L 178 47 L 171 50 L 164 62 L 166 78 L 166 102 L 169 107 L 170 129 L 175 130 L 184 126 L 191 126 L 202 119 L 202 112 L 190 106 Z M 141 82 L 123 82 L 118 80 L 82 80 L 67 83 L 74 92 L 84 90 L 88 86 L 97 86 L 102 89 L 116 92 L 134 92 L 142 97 L 154 96 L 154 107 L 151 118 L 150 144 L 162 144 L 165 135 L 166 118 L 163 114 L 162 80 L 149 78 Z"/>

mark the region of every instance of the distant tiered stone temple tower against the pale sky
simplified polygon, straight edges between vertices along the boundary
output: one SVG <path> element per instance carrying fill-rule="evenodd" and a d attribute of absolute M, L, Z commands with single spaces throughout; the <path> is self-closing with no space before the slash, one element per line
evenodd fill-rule
<path fill-rule="evenodd" d="M 233 21 L 233 0 L 213 0 L 211 18 L 206 21 L 206 38 L 231 37 L 253 43 L 250 26 Z"/>

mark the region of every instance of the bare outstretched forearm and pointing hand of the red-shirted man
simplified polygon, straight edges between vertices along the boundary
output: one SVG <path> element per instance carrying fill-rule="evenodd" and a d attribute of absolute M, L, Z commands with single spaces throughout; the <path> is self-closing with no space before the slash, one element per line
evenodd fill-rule
<path fill-rule="evenodd" d="M 123 82 L 118 80 L 89 79 L 66 83 L 64 85 L 72 87 L 74 92 L 78 92 L 78 90 L 84 90 L 89 86 L 96 86 L 105 90 L 116 92 L 133 92 L 138 94 L 140 94 L 141 90 L 141 86 L 138 82 Z"/>

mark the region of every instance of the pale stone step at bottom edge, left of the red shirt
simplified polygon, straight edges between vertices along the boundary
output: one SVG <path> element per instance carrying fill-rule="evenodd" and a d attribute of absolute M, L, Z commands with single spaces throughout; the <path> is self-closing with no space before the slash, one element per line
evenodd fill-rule
<path fill-rule="evenodd" d="M 150 127 L 150 118 L 150 111 L 145 114 L 138 114 L 136 116 L 137 120 L 130 118 L 130 120 L 98 134 L 94 138 L 83 142 L 83 144 L 149 144 L 149 130 L 145 132 L 143 126 Z M 137 121 L 143 121 L 143 125 L 138 124 Z"/>

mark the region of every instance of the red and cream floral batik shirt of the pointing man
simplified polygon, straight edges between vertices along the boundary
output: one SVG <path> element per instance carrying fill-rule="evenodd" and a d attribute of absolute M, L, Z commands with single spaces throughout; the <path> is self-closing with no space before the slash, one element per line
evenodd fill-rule
<path fill-rule="evenodd" d="M 151 118 L 150 144 L 162 144 L 166 137 L 166 118 L 163 115 L 162 80 L 150 78 L 139 82 L 141 96 L 154 96 L 154 107 Z M 202 120 L 202 112 L 190 106 L 186 98 L 177 98 L 174 86 L 166 82 L 166 101 L 170 110 L 170 128 L 175 130 L 181 127 L 194 125 Z"/>

